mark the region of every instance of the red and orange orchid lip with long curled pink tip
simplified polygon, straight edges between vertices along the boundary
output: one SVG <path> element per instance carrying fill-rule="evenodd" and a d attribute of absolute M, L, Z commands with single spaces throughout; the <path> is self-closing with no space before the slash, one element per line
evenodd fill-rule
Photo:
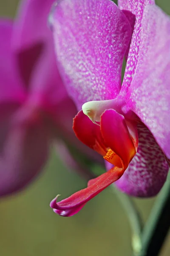
<path fill-rule="evenodd" d="M 118 180 L 136 154 L 133 140 L 137 141 L 137 139 L 132 140 L 124 116 L 113 109 L 102 113 L 100 126 L 91 122 L 88 116 L 79 111 L 74 118 L 73 129 L 82 143 L 102 154 L 115 166 L 108 172 L 90 180 L 87 188 L 74 193 L 69 198 L 58 203 L 56 201 L 58 196 L 54 198 L 50 206 L 55 213 L 62 216 L 76 214 L 89 200 Z"/>

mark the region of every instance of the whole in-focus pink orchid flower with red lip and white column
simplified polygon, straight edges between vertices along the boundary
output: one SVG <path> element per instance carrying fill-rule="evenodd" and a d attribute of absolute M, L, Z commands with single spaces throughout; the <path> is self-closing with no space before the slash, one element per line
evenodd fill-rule
<path fill-rule="evenodd" d="M 54 198 L 54 212 L 74 215 L 116 180 L 129 195 L 156 195 L 170 158 L 170 18 L 154 0 L 62 0 L 50 20 L 59 71 L 79 110 L 74 132 L 108 170 Z"/>

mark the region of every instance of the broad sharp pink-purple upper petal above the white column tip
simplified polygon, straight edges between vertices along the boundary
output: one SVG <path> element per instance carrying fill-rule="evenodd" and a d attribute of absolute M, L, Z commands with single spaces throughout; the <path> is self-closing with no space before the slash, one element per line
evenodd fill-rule
<path fill-rule="evenodd" d="M 60 73 L 78 109 L 90 100 L 113 99 L 130 42 L 125 15 L 109 0 L 63 0 L 51 14 Z"/>

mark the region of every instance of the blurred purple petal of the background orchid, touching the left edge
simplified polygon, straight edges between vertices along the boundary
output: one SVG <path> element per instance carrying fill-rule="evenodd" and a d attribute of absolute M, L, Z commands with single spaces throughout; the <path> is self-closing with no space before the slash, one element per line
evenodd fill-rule
<path fill-rule="evenodd" d="M 13 22 L 0 20 L 0 103 L 22 102 L 25 91 L 11 52 Z"/>

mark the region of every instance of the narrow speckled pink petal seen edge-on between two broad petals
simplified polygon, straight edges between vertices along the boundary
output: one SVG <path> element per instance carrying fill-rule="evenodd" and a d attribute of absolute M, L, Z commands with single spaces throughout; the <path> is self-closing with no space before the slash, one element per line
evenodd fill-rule
<path fill-rule="evenodd" d="M 146 6 L 155 5 L 155 0 L 119 0 L 118 6 L 120 9 L 125 11 L 130 11 L 132 13 L 132 17 L 130 18 L 130 13 L 127 13 L 127 19 L 133 20 L 133 15 L 136 17 L 135 26 L 133 30 L 132 40 L 130 43 L 129 54 L 127 58 L 125 76 L 123 79 L 121 93 L 125 95 L 130 84 L 133 80 L 133 76 L 136 70 L 136 65 L 138 63 L 139 58 L 139 46 L 141 42 L 141 26 L 142 26 L 142 17 L 143 12 Z M 153 6 L 151 7 L 153 8 Z M 124 12 L 126 15 L 126 12 Z M 131 23 L 133 27 L 133 23 Z"/>

